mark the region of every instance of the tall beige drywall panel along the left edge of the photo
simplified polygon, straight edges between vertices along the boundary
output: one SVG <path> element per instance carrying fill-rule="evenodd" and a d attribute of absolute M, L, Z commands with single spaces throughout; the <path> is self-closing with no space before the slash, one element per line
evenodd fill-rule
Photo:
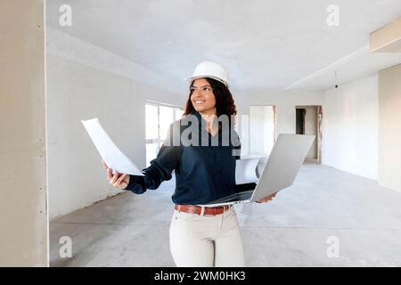
<path fill-rule="evenodd" d="M 0 2 L 0 266 L 46 266 L 43 0 Z"/>

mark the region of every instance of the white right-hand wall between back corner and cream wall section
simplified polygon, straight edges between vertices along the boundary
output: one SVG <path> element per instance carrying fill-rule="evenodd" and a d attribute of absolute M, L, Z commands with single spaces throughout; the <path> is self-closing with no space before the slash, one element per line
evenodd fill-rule
<path fill-rule="evenodd" d="M 378 179 L 378 76 L 325 93 L 323 164 Z"/>

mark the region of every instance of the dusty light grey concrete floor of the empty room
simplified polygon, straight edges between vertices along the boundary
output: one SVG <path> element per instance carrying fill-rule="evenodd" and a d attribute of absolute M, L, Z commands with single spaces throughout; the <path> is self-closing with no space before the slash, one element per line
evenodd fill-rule
<path fill-rule="evenodd" d="M 54 220 L 51 266 L 174 266 L 173 190 L 170 181 L 143 195 L 124 192 Z M 272 202 L 236 211 L 249 266 L 401 266 L 401 192 L 372 180 L 305 165 Z M 61 236 L 72 239 L 71 258 L 59 256 Z M 327 256 L 331 236 L 338 257 Z"/>

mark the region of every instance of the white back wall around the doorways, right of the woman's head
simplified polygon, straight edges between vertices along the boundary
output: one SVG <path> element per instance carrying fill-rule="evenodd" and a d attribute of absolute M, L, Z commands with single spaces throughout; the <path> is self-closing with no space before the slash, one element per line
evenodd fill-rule
<path fill-rule="evenodd" d="M 238 114 L 250 115 L 250 105 L 276 106 L 276 134 L 295 134 L 296 106 L 323 105 L 324 93 L 317 91 L 233 91 Z M 323 115 L 324 116 L 324 115 Z M 241 155 L 249 154 L 249 119 L 240 120 L 239 134 L 241 136 Z"/>

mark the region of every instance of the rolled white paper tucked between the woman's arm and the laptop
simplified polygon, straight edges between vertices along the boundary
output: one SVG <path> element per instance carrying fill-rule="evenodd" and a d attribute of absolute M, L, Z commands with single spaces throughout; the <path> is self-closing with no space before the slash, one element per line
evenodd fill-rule
<path fill-rule="evenodd" d="M 235 183 L 257 183 L 266 166 L 266 158 L 235 160 Z"/>

